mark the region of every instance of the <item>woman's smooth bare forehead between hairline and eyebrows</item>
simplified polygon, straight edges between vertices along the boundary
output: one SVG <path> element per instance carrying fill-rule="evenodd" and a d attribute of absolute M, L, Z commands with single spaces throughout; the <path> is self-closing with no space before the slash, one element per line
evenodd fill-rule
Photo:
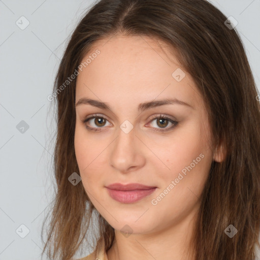
<path fill-rule="evenodd" d="M 92 57 L 97 49 L 100 54 Z M 122 93 L 127 96 L 122 103 L 152 100 L 162 94 L 191 103 L 197 101 L 196 95 L 200 98 L 192 78 L 164 42 L 116 35 L 96 42 L 82 62 L 89 56 L 91 62 L 77 79 L 76 99 L 94 94 L 107 101 L 109 97 L 122 99 Z M 183 78 L 177 81 L 176 76 Z"/>

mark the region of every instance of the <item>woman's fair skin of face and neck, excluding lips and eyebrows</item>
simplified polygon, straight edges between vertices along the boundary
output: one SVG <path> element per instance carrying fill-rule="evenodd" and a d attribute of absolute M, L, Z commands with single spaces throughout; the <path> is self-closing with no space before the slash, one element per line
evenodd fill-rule
<path fill-rule="evenodd" d="M 181 65 L 165 44 L 139 36 L 109 39 L 97 42 L 84 57 L 86 60 L 96 48 L 101 51 L 77 78 L 76 104 L 89 98 L 111 107 L 76 107 L 75 152 L 82 184 L 95 208 L 115 229 L 109 260 L 185 259 L 211 163 L 221 160 L 221 154 L 211 149 L 202 96 L 184 69 L 186 76 L 180 82 L 173 78 Z M 189 106 L 173 104 L 138 111 L 140 103 L 161 99 L 178 99 Z M 94 113 L 107 120 L 83 122 Z M 170 129 L 170 121 L 156 123 L 152 116 L 160 114 L 178 124 Z M 128 134 L 120 128 L 125 120 L 133 125 Z M 91 132 L 86 125 L 101 131 Z M 155 131 L 167 128 L 166 132 Z M 200 162 L 152 205 L 200 154 L 204 155 Z M 116 182 L 157 188 L 136 203 L 124 204 L 113 200 L 105 187 Z M 131 227 L 131 234 L 120 232 L 125 224 Z"/>

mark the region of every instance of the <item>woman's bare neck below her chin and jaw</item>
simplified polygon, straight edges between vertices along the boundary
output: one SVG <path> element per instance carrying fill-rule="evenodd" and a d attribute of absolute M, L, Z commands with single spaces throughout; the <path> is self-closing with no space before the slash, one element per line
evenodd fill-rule
<path fill-rule="evenodd" d="M 113 245 L 107 251 L 108 260 L 195 259 L 194 256 L 189 255 L 189 250 L 193 249 L 190 243 L 197 217 L 196 212 L 194 210 L 178 223 L 167 225 L 164 230 L 128 236 L 115 230 Z"/>

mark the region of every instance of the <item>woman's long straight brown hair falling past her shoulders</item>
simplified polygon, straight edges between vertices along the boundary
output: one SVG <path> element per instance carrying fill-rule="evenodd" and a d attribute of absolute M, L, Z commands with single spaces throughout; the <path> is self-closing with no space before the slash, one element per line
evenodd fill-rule
<path fill-rule="evenodd" d="M 90 230 L 93 237 L 104 237 L 106 250 L 113 243 L 114 230 L 98 212 L 98 230 L 91 229 L 96 210 L 82 182 L 74 186 L 68 181 L 72 173 L 79 173 L 74 151 L 77 78 L 64 82 L 98 40 L 119 32 L 149 36 L 175 50 L 203 95 L 213 144 L 222 144 L 226 152 L 222 163 L 212 162 L 203 190 L 192 239 L 196 259 L 255 259 L 256 245 L 260 246 L 260 106 L 242 41 L 236 28 L 226 26 L 226 19 L 205 0 L 101 0 L 87 11 L 55 79 L 57 191 L 43 253 L 48 248 L 51 259 L 69 260 Z M 233 238 L 224 232 L 230 224 L 238 230 Z"/>

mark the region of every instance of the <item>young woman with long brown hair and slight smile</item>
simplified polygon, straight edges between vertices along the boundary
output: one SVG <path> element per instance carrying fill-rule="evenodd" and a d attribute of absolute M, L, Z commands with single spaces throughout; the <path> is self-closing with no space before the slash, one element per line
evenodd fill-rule
<path fill-rule="evenodd" d="M 255 259 L 257 94 L 234 23 L 210 3 L 96 3 L 56 76 L 44 251 L 72 259 L 91 235 L 84 260 Z"/>

